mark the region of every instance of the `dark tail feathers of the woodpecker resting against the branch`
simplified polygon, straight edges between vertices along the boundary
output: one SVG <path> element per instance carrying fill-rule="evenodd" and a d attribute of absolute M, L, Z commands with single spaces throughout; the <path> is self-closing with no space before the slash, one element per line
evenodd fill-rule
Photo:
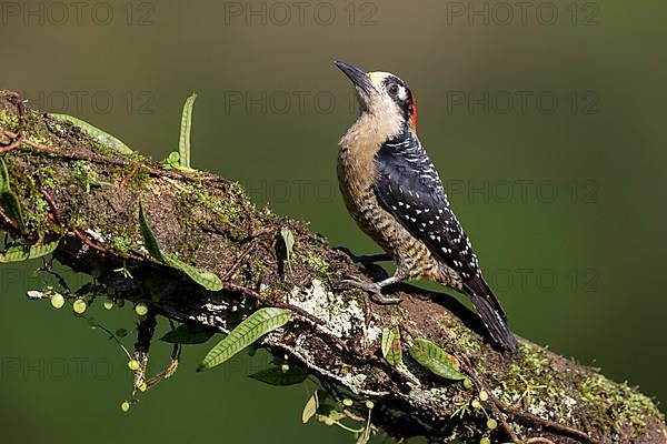
<path fill-rule="evenodd" d="M 507 325 L 507 315 L 500 302 L 484 279 L 478 276 L 465 282 L 464 290 L 470 296 L 491 339 L 502 349 L 515 352 L 518 346 L 517 339 Z"/>

